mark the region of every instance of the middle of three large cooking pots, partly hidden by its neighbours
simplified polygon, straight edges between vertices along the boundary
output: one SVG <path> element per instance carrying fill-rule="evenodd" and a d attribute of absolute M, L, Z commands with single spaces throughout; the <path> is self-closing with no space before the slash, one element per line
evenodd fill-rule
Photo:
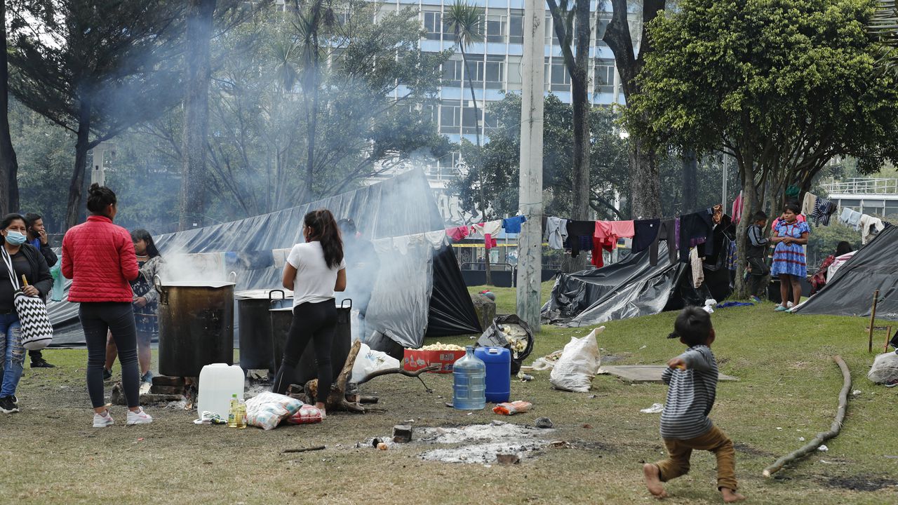
<path fill-rule="evenodd" d="M 274 368 L 271 350 L 271 317 L 269 309 L 293 306 L 293 298 L 286 297 L 283 289 L 251 289 L 237 291 L 237 315 L 240 326 L 240 368 L 269 370 Z"/>

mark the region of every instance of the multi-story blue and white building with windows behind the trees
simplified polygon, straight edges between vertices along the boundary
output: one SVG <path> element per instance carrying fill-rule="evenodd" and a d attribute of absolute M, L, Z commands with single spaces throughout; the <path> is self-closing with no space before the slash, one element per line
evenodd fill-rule
<path fill-rule="evenodd" d="M 456 49 L 442 68 L 443 84 L 439 92 L 440 104 L 434 111 L 440 133 L 458 142 L 465 137 L 475 140 L 476 128 L 480 136 L 489 138 L 491 128 L 497 126 L 490 112 L 490 102 L 502 100 L 505 93 L 520 93 L 522 89 L 521 61 L 524 56 L 524 1 L 523 0 L 467 0 L 482 9 L 481 30 L 483 41 L 465 48 L 468 68 L 476 99 L 474 102 L 468 87 L 468 76 L 462 61 L 462 53 L 452 31 L 445 23 L 445 13 L 454 0 L 392 0 L 379 2 L 381 12 L 387 13 L 409 6 L 418 7 L 418 16 L 426 34 L 421 40 L 421 49 L 442 51 Z M 614 66 L 612 50 L 602 41 L 604 27 L 611 21 L 611 4 L 593 2 L 593 27 L 590 42 L 590 98 L 594 104 L 610 105 L 622 102 L 620 76 Z M 543 23 L 545 40 L 545 91 L 554 93 L 562 102 L 571 101 L 570 75 L 564 65 L 558 37 L 552 27 L 551 14 L 546 7 L 546 22 Z M 638 17 L 633 18 L 633 28 Z M 458 173 L 459 155 L 453 153 L 439 160 L 415 160 L 397 171 L 424 164 L 431 187 L 436 192 L 437 201 L 448 219 L 461 217 L 460 209 L 451 195 L 445 193 L 446 184 Z"/>

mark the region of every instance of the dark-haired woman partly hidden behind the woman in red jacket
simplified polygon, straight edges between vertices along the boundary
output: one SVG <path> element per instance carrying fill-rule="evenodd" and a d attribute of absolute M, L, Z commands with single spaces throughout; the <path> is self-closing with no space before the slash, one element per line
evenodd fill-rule
<path fill-rule="evenodd" d="M 159 335 L 159 294 L 153 287 L 153 278 L 163 268 L 163 257 L 156 249 L 153 235 L 143 228 L 131 232 L 131 241 L 134 243 L 134 252 L 137 254 L 137 268 L 140 275 L 131 281 L 131 289 L 134 290 L 134 322 L 137 328 L 137 363 L 140 365 L 141 382 L 149 383 L 153 380 L 153 350 L 150 342 L 154 336 Z M 119 356 L 115 340 L 111 335 L 106 339 L 106 365 L 103 368 L 103 378 L 112 377 L 112 364 Z"/>

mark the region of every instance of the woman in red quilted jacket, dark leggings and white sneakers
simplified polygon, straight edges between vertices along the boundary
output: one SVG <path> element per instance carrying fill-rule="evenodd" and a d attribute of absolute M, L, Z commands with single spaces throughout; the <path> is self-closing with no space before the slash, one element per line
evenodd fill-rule
<path fill-rule="evenodd" d="M 128 400 L 128 424 L 153 421 L 140 408 L 137 371 L 137 333 L 130 281 L 137 278 L 137 257 L 128 230 L 112 224 L 115 193 L 92 184 L 87 196 L 91 216 L 68 230 L 62 240 L 62 273 L 72 279 L 68 301 L 78 302 L 78 316 L 87 341 L 87 393 L 93 404 L 93 427 L 113 423 L 103 392 L 106 335 L 112 333 L 119 348 L 121 383 Z"/>

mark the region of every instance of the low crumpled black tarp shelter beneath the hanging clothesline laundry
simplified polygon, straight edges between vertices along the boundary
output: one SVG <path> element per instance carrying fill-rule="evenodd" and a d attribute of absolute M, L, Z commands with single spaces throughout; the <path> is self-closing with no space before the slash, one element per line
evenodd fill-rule
<path fill-rule="evenodd" d="M 601 269 L 559 273 L 542 306 L 542 317 L 550 323 L 588 326 L 702 306 L 708 298 L 721 301 L 729 296 L 729 270 L 706 269 L 704 275 L 701 287 L 693 288 L 689 263 L 672 264 L 661 242 L 655 266 L 643 251 Z"/>

